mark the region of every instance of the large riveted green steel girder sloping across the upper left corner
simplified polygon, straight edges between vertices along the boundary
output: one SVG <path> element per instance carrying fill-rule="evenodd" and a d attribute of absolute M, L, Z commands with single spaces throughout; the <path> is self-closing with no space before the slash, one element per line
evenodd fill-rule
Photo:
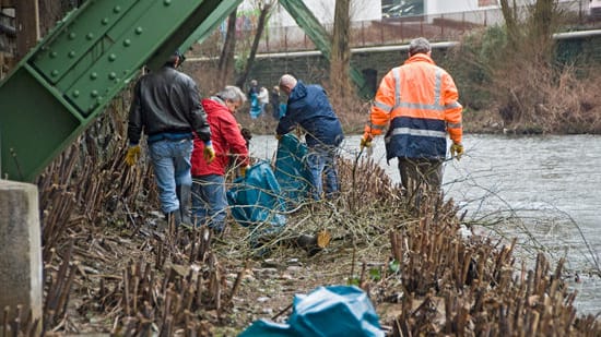
<path fill-rule="evenodd" d="M 0 83 L 2 178 L 34 181 L 142 65 L 158 69 L 240 1 L 89 0 L 69 13 Z"/>

